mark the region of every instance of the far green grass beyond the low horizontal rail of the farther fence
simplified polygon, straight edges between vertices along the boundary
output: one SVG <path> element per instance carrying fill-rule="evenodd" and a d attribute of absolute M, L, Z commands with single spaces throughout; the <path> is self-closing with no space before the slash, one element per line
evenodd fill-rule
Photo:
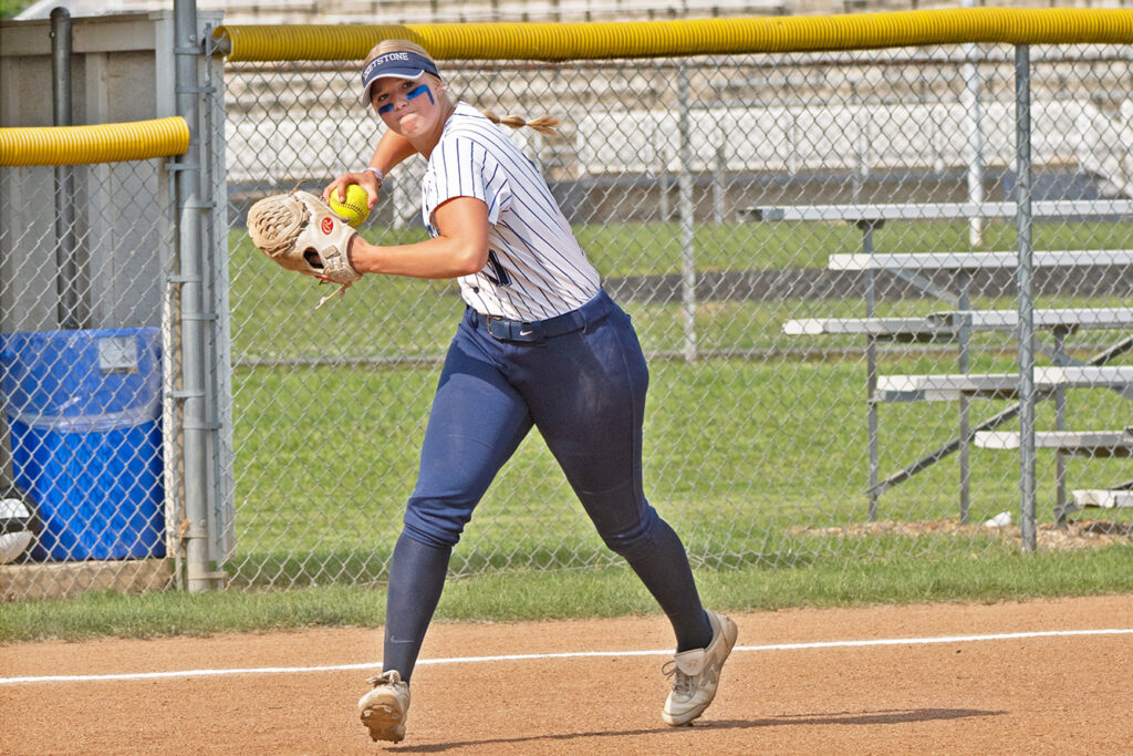
<path fill-rule="evenodd" d="M 1127 224 L 1126 224 L 1127 226 Z M 1119 248 L 1128 246 L 1128 229 L 1117 223 L 1037 223 L 1036 247 L 1048 249 Z M 860 252 L 860 232 L 845 223 L 697 224 L 696 265 L 710 270 L 775 270 L 825 267 L 832 254 Z M 419 240 L 423 229 L 366 229 L 382 244 Z M 581 226 L 576 233 L 604 278 L 675 274 L 681 271 L 680 230 L 673 223 Z M 878 252 L 965 250 L 970 248 L 963 223 L 894 223 L 876 232 Z M 987 248 L 1014 248 L 1014 228 L 991 223 Z M 341 301 L 314 309 L 331 291 L 264 264 L 242 231 L 230 235 L 232 280 L 232 354 L 242 360 L 282 358 L 334 359 L 367 357 L 414 359 L 435 357 L 450 338 L 463 309 L 457 284 L 384 278 L 365 280 Z M 647 352 L 681 354 L 684 349 L 683 307 L 668 304 L 623 303 L 638 323 Z M 1123 306 L 1122 297 L 1084 299 L 1068 294 L 1042 297 L 1037 307 Z M 1016 307 L 1014 296 L 977 298 L 978 308 Z M 877 315 L 925 315 L 949 305 L 930 298 L 883 300 Z M 706 352 L 769 349 L 861 348 L 854 337 L 820 340 L 785 337 L 782 325 L 800 317 L 863 317 L 864 303 L 855 298 L 824 301 L 707 301 L 696 313 L 698 346 Z M 364 320 L 363 320 L 364 318 Z M 1108 335 L 1108 334 L 1102 334 Z M 980 334 L 985 345 L 1011 350 L 1011 334 Z"/>

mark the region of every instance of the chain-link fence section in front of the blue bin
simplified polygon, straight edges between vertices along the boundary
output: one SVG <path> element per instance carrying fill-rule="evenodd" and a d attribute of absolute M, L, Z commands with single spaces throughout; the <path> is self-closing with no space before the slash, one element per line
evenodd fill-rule
<path fill-rule="evenodd" d="M 0 170 L 3 562 L 108 564 L 90 585 L 169 581 L 125 561 L 173 553 L 161 328 L 173 219 L 161 176 L 159 160 Z M 34 540 L 22 513 L 35 515 Z M 5 594 L 88 577 L 8 568 Z"/>

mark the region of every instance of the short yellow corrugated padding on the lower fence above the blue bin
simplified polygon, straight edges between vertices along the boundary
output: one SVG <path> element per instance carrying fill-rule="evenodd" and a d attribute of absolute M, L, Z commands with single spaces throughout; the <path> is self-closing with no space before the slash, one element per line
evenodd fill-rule
<path fill-rule="evenodd" d="M 180 155 L 189 126 L 180 116 L 96 126 L 0 128 L 0 165 L 78 165 Z"/>

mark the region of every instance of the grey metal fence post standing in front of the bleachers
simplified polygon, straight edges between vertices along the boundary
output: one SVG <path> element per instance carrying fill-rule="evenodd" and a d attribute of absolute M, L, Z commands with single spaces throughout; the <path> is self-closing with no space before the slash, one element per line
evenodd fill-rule
<path fill-rule="evenodd" d="M 1019 493 L 1023 550 L 1036 550 L 1034 532 L 1034 295 L 1031 238 L 1031 51 L 1015 48 L 1015 150 L 1019 223 Z"/>

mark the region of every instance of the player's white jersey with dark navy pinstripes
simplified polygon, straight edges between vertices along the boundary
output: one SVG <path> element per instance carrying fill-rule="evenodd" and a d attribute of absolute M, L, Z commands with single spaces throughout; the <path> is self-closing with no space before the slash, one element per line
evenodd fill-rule
<path fill-rule="evenodd" d="M 461 296 L 477 312 L 544 320 L 577 309 L 598 292 L 598 272 L 546 179 L 501 127 L 463 102 L 445 124 L 421 181 L 421 216 L 432 236 L 438 233 L 433 212 L 453 197 L 488 206 L 488 262 L 458 279 Z"/>

